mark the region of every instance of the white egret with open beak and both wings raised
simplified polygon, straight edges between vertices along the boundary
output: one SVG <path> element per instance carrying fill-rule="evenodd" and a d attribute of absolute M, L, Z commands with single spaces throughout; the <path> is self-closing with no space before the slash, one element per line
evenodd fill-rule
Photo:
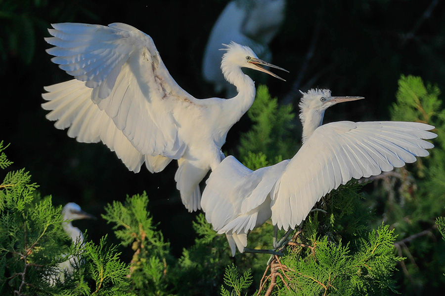
<path fill-rule="evenodd" d="M 225 45 L 224 77 L 236 86 L 231 99 L 196 99 L 185 92 L 159 56 L 150 36 L 132 26 L 64 23 L 49 29 L 46 42 L 52 62 L 76 79 L 45 87 L 42 104 L 55 127 L 68 129 L 79 142 L 102 141 L 139 172 L 162 171 L 178 160 L 175 174 L 182 203 L 200 209 L 199 183 L 222 159 L 228 130 L 255 99 L 253 80 L 241 71 L 262 68 L 264 62 L 247 46 Z M 285 71 L 285 70 L 284 70 Z M 284 80 L 284 79 L 282 79 Z"/>

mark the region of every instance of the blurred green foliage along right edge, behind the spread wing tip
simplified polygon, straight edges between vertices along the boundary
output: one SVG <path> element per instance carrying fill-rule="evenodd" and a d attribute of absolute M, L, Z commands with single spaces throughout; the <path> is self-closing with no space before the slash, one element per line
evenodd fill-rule
<path fill-rule="evenodd" d="M 438 137 L 432 140 L 430 156 L 383 174 L 378 178 L 381 186 L 368 197 L 370 207 L 399 235 L 399 256 L 409 258 L 400 262 L 395 275 L 404 295 L 423 294 L 444 284 L 444 247 L 434 239 L 436 217 L 444 215 L 445 204 L 445 110 L 440 94 L 436 85 L 425 84 L 420 77 L 401 75 L 392 119 L 428 123 Z"/>

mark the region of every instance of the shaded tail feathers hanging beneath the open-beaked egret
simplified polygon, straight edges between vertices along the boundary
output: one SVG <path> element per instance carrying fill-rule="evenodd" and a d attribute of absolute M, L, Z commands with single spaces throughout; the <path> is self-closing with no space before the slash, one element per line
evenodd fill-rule
<path fill-rule="evenodd" d="M 188 160 L 178 159 L 178 171 L 175 174 L 176 188 L 180 191 L 181 200 L 189 212 L 201 209 L 201 189 L 199 183 L 209 169 L 195 166 Z"/>

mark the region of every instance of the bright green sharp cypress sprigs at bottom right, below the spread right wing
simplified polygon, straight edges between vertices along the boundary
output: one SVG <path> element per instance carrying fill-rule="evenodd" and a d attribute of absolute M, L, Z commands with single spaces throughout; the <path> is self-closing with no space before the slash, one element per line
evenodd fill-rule
<path fill-rule="evenodd" d="M 394 241 L 388 225 L 360 239 L 355 251 L 342 240 L 314 238 L 306 252 L 292 252 L 281 260 L 292 280 L 279 295 L 387 295 L 393 284 L 388 274 L 400 260 L 393 256 Z"/>

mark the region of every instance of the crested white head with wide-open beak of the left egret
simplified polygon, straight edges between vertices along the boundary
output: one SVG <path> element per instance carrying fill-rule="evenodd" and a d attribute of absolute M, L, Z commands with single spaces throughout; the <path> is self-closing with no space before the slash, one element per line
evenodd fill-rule
<path fill-rule="evenodd" d="M 230 71 L 231 67 L 237 66 L 239 68 L 244 67 L 261 71 L 269 75 L 272 75 L 275 78 L 286 81 L 280 76 L 264 69 L 263 67 L 261 67 L 261 65 L 279 69 L 286 72 L 289 71 L 259 59 L 255 54 L 255 52 L 253 52 L 253 50 L 249 46 L 240 45 L 233 41 L 231 41 L 230 44 L 223 44 L 223 45 L 226 47 L 222 48 L 222 50 L 226 50 L 226 52 L 223 54 L 223 61 L 221 62 L 221 69 L 223 70 L 224 75 Z"/>

